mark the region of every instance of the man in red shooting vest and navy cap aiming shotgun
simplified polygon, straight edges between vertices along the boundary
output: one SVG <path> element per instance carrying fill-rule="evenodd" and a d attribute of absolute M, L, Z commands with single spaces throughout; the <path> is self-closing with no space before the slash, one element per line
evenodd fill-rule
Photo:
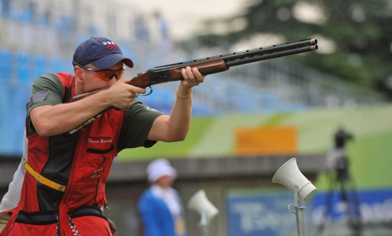
<path fill-rule="evenodd" d="M 33 83 L 22 162 L 0 203 L 0 236 L 113 235 L 115 226 L 103 209 L 118 152 L 186 137 L 192 87 L 204 80 L 197 69 L 182 70 L 184 80 L 168 116 L 135 100 L 146 90 L 121 78 L 124 64 L 133 67 L 133 62 L 112 40 L 87 39 L 76 48 L 72 64 L 74 74 L 44 74 Z M 108 89 L 63 102 L 100 88 Z M 69 133 L 108 107 L 125 110 L 110 109 Z"/>

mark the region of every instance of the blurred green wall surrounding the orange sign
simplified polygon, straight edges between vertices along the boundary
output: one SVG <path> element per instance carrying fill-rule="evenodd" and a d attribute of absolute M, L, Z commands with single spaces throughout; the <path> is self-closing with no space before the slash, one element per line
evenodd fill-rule
<path fill-rule="evenodd" d="M 232 157 L 234 134 L 238 128 L 261 126 L 295 126 L 298 129 L 299 154 L 324 154 L 333 146 L 333 135 L 339 128 L 352 133 L 347 143 L 350 172 L 360 188 L 392 186 L 392 106 L 309 109 L 297 112 L 233 114 L 216 117 L 193 117 L 185 141 L 158 142 L 149 149 L 127 149 L 119 154 L 121 161 L 157 157 L 203 158 Z M 318 186 L 326 188 L 325 174 Z"/>

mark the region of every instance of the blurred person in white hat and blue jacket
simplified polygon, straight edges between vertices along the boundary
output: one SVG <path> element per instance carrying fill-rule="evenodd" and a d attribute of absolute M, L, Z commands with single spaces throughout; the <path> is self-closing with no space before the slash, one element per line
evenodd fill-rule
<path fill-rule="evenodd" d="M 139 199 L 138 210 L 144 236 L 185 236 L 182 201 L 171 186 L 177 171 L 166 159 L 157 159 L 147 166 L 151 187 Z"/>

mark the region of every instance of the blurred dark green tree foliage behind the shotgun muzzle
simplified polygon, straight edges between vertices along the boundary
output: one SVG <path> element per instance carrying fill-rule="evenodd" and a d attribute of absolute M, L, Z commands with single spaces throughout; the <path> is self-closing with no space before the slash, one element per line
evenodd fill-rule
<path fill-rule="evenodd" d="M 366 87 L 392 91 L 390 87 L 385 87 L 388 77 L 392 80 L 392 1 L 254 0 L 249 4 L 243 15 L 236 17 L 245 19 L 243 29 L 229 30 L 225 35 L 204 34 L 199 37 L 200 41 L 209 46 L 218 46 L 222 42 L 231 45 L 260 33 L 279 35 L 287 42 L 320 36 L 319 46 L 322 47 L 323 39 L 328 39 L 335 44 L 333 52 L 321 53 L 320 50 L 320 53 L 305 53 L 290 58 Z M 300 6 L 303 17 L 321 20 L 301 20 L 296 11 Z M 314 7 L 320 12 L 304 6 Z M 213 20 L 206 24 L 220 21 L 230 28 L 236 19 Z M 260 42 L 260 46 L 267 45 Z"/>

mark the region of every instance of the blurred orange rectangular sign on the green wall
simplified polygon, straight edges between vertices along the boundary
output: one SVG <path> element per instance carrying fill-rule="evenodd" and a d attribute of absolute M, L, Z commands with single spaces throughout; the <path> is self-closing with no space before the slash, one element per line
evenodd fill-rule
<path fill-rule="evenodd" d="M 235 135 L 237 156 L 297 153 L 295 127 L 244 128 L 238 129 Z"/>

